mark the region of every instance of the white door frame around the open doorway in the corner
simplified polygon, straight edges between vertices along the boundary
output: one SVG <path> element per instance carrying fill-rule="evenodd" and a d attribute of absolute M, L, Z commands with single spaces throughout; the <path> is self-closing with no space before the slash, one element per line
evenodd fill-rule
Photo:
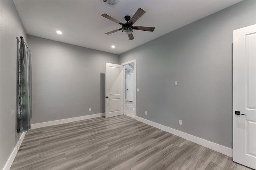
<path fill-rule="evenodd" d="M 131 60 L 131 61 L 127 61 L 125 63 L 122 63 L 121 65 L 123 65 L 123 69 L 124 69 L 124 65 L 127 65 L 127 64 L 133 64 L 134 63 L 134 72 L 133 72 L 133 79 L 134 79 L 134 88 L 133 88 L 133 106 L 134 106 L 134 119 L 136 119 L 136 107 L 137 107 L 137 104 L 136 104 L 136 59 L 134 60 Z M 123 74 L 124 74 L 124 71 L 123 71 Z M 124 80 L 124 76 L 123 76 L 123 81 L 125 82 Z M 123 94 L 125 94 L 125 86 L 123 87 Z M 124 99 L 124 102 L 125 102 L 125 99 Z M 124 104 L 124 103 L 123 103 Z M 124 106 L 123 106 L 124 107 Z"/>

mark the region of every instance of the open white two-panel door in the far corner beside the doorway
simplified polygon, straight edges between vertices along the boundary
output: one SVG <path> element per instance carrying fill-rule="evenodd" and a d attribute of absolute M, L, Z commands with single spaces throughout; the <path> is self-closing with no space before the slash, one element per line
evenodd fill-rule
<path fill-rule="evenodd" d="M 123 66 L 106 63 L 106 115 L 112 117 L 122 115 L 123 109 Z"/>

